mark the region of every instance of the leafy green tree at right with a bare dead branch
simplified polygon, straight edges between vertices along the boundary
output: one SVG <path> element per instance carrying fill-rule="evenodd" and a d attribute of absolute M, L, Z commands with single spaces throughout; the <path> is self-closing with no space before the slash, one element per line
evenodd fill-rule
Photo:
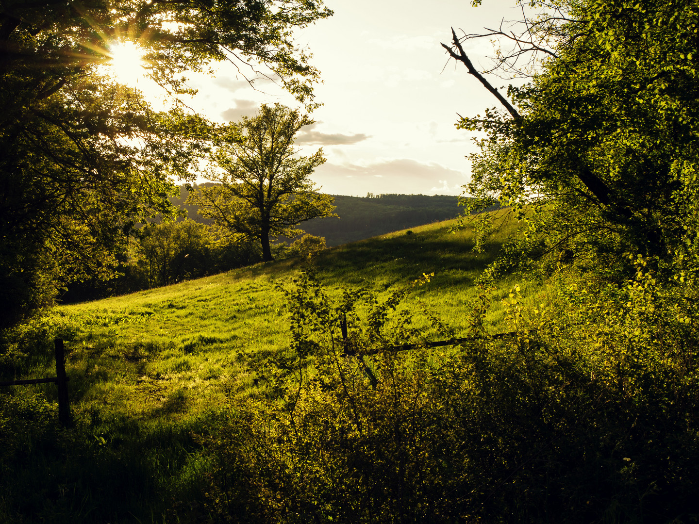
<path fill-rule="evenodd" d="M 521 5 L 545 10 L 522 20 L 522 31 L 462 38 L 452 31 L 442 44 L 505 108 L 458 123 L 487 135 L 468 190 L 520 208 L 540 205 L 546 212 L 532 220 L 547 229 L 551 248 L 671 259 L 686 228 L 699 226 L 699 4 Z M 468 39 L 492 36 L 514 48 L 501 49 L 490 71 L 531 77 L 507 99 L 463 49 Z"/>

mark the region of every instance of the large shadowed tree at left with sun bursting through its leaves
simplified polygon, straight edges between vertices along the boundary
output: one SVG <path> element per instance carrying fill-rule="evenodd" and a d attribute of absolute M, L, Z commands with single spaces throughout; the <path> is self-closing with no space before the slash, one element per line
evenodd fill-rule
<path fill-rule="evenodd" d="M 2 0 L 0 323 L 66 282 L 109 277 L 134 225 L 172 214 L 171 179 L 192 177 L 208 148 L 204 119 L 154 112 L 99 73 L 111 45 L 138 43 L 174 95 L 210 61 L 252 81 L 251 60 L 310 103 L 318 71 L 291 30 L 329 15 L 314 1 Z"/>

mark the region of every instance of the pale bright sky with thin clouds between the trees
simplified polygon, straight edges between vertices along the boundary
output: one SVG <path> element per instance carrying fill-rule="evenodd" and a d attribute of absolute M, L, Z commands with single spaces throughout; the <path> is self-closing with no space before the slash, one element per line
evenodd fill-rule
<path fill-rule="evenodd" d="M 496 27 L 518 17 L 514 0 L 326 0 L 335 14 L 296 31 L 321 71 L 315 87 L 323 105 L 316 123 L 303 129 L 301 154 L 323 147 L 327 159 L 312 179 L 329 194 L 368 193 L 458 195 L 468 183 L 475 151 L 473 133 L 454 126 L 461 115 L 477 115 L 498 102 L 440 43 L 457 34 Z M 466 52 L 486 66 L 493 46 L 468 41 Z M 216 122 L 255 114 L 260 103 L 298 106 L 271 82 L 252 89 L 232 64 L 219 64 L 215 78 L 192 75 L 199 94 L 186 103 Z M 490 77 L 496 87 L 507 80 Z"/>

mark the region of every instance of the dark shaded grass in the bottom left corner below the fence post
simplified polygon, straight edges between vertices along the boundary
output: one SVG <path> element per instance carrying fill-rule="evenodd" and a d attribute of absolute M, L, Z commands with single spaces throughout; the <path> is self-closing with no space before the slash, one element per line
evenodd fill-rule
<path fill-rule="evenodd" d="M 182 409 L 177 392 L 163 407 Z M 216 415 L 173 423 L 94 410 L 62 430 L 54 412 L 42 395 L 0 404 L 1 522 L 186 522 L 198 511 L 208 465 L 194 435 Z"/>

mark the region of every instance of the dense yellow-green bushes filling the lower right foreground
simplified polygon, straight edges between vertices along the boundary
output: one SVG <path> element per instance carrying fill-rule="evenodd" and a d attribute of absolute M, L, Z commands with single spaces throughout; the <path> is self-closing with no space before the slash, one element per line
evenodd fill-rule
<path fill-rule="evenodd" d="M 527 306 L 515 286 L 516 337 L 373 357 L 450 333 L 429 314 L 416 325 L 400 293 L 331 302 L 305 273 L 288 293 L 294 342 L 267 375 L 279 400 L 241 408 L 210 441 L 211 509 L 226 522 L 691 521 L 699 333 L 644 263 L 624 289 L 574 272 Z"/>

